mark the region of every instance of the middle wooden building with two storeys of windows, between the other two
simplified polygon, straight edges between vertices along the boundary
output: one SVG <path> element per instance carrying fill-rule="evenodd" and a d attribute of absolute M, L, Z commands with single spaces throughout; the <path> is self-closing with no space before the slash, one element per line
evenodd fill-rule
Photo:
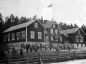
<path fill-rule="evenodd" d="M 44 20 L 41 22 L 44 27 L 44 42 L 57 43 L 58 25 L 55 21 Z"/>

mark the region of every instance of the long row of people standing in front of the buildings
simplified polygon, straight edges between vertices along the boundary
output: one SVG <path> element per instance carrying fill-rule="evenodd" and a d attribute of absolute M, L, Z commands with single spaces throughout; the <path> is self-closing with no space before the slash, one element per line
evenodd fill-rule
<path fill-rule="evenodd" d="M 11 49 L 11 54 L 15 55 L 15 54 L 20 54 L 20 55 L 23 55 L 23 52 L 24 50 L 26 50 L 26 53 L 28 52 L 37 52 L 38 50 L 47 50 L 47 49 L 55 49 L 56 51 L 59 51 L 60 49 L 70 49 L 69 46 L 57 46 L 57 47 L 54 47 L 53 45 L 30 45 L 30 44 L 27 44 L 27 45 L 24 45 L 24 44 L 21 44 L 20 48 L 19 49 L 16 49 L 15 47 L 13 47 Z"/>

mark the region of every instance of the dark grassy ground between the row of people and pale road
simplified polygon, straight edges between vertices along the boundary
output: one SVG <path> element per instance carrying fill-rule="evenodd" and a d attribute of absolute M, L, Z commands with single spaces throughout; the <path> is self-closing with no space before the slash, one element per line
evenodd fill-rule
<path fill-rule="evenodd" d="M 71 60 L 74 61 L 77 59 L 82 59 L 86 54 L 80 54 L 71 51 L 55 51 L 55 50 L 39 50 L 38 52 L 28 52 L 23 55 L 16 55 L 15 57 L 11 57 L 11 62 L 18 62 L 18 64 L 26 64 L 27 62 L 43 62 L 43 63 L 52 63 L 52 62 L 64 62 Z M 12 64 L 12 63 L 11 63 Z M 14 63 L 15 64 L 15 63 Z"/>

